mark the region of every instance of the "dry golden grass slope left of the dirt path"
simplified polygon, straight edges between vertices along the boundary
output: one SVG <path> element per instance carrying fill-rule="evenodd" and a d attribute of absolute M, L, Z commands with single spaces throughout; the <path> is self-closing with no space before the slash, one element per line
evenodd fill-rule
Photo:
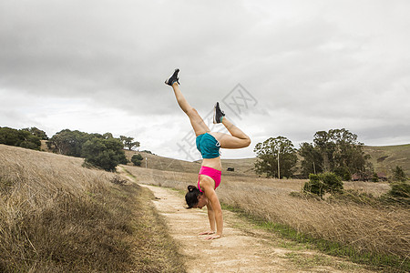
<path fill-rule="evenodd" d="M 82 163 L 0 145 L 0 272 L 184 271 L 149 191 Z"/>

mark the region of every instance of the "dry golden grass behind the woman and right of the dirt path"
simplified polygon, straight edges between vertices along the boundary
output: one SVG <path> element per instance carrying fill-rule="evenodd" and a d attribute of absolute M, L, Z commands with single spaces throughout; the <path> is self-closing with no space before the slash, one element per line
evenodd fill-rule
<path fill-rule="evenodd" d="M 185 190 L 196 185 L 198 175 L 127 167 L 140 183 Z M 292 197 L 303 180 L 276 180 L 222 175 L 220 201 L 267 221 L 326 240 L 350 246 L 357 253 L 394 256 L 408 264 L 410 214 L 405 207 L 373 206 L 348 201 L 329 202 L 316 198 Z M 345 188 L 379 197 L 389 186 L 384 183 L 347 182 Z"/>

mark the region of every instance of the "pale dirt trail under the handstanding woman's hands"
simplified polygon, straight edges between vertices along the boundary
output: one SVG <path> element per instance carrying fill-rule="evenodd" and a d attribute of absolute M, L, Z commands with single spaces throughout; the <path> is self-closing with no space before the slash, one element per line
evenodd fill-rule
<path fill-rule="evenodd" d="M 188 272 L 370 272 L 252 227 L 225 210 L 223 237 L 206 241 L 198 235 L 209 227 L 206 209 L 185 209 L 183 197 L 169 188 L 140 186 L 154 193 Z"/>

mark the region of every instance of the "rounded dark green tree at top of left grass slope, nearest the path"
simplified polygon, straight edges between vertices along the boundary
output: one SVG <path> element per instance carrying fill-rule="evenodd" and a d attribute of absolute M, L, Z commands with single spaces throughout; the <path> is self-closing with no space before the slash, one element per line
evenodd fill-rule
<path fill-rule="evenodd" d="M 115 171 L 118 164 L 127 163 L 122 143 L 118 138 L 94 137 L 86 141 L 82 148 L 85 163 L 107 171 Z"/>

